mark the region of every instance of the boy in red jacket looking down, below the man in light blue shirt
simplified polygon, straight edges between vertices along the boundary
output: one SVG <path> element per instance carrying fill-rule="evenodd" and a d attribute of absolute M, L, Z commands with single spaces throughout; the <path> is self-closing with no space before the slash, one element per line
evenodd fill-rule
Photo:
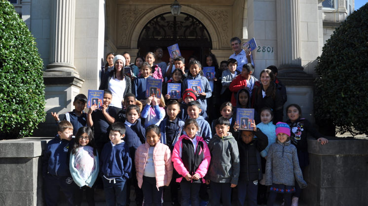
<path fill-rule="evenodd" d="M 249 91 L 249 99 L 251 99 L 254 83 L 255 81 L 258 81 L 255 77 L 252 76 L 253 71 L 254 66 L 251 63 L 244 64 L 240 75 L 235 77 L 235 79 L 230 83 L 230 91 L 235 94 L 235 92 L 238 92 L 240 89 L 245 88 Z M 235 96 L 231 96 L 231 103 L 235 103 Z"/>

